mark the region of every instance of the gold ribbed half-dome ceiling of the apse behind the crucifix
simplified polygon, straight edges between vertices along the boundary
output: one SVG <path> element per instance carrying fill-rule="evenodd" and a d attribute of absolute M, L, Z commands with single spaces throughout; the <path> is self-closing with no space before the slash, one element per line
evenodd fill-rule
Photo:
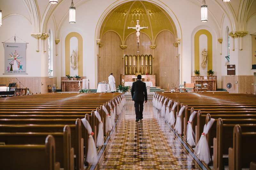
<path fill-rule="evenodd" d="M 159 6 L 146 1 L 130 1 L 117 6 L 103 21 L 100 28 L 100 38 L 108 31 L 116 32 L 122 43 L 135 29 L 128 29 L 137 25 L 139 20 L 140 33 L 145 33 L 154 43 L 156 36 L 163 30 L 170 31 L 176 37 L 176 27 L 172 18 Z"/>

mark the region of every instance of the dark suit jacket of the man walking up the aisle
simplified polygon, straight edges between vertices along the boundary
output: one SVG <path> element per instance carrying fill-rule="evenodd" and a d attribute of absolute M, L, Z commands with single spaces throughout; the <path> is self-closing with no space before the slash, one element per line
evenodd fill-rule
<path fill-rule="evenodd" d="M 146 83 L 142 82 L 141 80 L 137 80 L 132 83 L 132 100 L 134 101 L 144 101 L 148 100 L 148 93 Z"/>

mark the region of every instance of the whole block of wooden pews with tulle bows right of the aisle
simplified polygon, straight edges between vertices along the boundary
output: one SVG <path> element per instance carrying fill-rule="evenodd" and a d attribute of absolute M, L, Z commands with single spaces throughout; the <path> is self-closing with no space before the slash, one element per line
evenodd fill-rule
<path fill-rule="evenodd" d="M 256 169 L 256 95 L 156 92 L 153 105 L 195 155 L 214 170 L 224 166 Z M 207 140 L 208 148 L 200 152 L 201 138 Z M 201 155 L 207 149 L 208 155 Z"/>

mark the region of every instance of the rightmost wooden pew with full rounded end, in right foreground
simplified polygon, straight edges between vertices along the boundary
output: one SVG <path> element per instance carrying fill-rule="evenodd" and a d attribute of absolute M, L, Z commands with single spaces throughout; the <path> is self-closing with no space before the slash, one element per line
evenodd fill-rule
<path fill-rule="evenodd" d="M 228 149 L 228 169 L 249 168 L 256 161 L 256 132 L 243 132 L 239 125 L 234 127 L 233 148 Z"/>

